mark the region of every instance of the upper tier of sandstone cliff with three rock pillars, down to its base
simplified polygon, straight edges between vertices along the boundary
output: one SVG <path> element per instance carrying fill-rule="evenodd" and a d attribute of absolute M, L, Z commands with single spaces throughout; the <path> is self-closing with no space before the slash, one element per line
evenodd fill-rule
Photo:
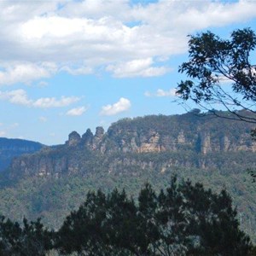
<path fill-rule="evenodd" d="M 82 137 L 73 131 L 66 145 L 80 146 L 102 154 L 176 152 L 181 149 L 201 154 L 241 150 L 256 152 L 256 142 L 250 135 L 253 129 L 251 124 L 224 119 L 220 124 L 219 120 L 215 122 L 217 119 L 203 116 L 194 117 L 195 122 L 192 122 L 185 118 L 185 114 L 176 119 L 172 117 L 123 119 L 111 125 L 106 133 L 102 127 L 97 127 L 95 135 L 88 129 Z M 164 124 L 161 123 L 163 119 Z"/>

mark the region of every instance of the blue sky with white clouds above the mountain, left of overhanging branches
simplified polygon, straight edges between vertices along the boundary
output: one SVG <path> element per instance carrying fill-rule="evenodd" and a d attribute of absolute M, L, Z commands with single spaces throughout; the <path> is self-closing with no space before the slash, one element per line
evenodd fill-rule
<path fill-rule="evenodd" d="M 0 0 L 0 137 L 53 145 L 185 113 L 175 89 L 188 35 L 244 27 L 256 28 L 256 0 Z"/>

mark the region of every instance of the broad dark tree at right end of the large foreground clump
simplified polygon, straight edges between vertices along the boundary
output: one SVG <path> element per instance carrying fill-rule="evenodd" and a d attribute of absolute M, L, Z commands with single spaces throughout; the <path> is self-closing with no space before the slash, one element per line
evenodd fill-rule
<path fill-rule="evenodd" d="M 219 194 L 190 181 L 180 185 L 184 209 L 189 212 L 187 233 L 193 239 L 187 255 L 247 255 L 249 237 L 239 230 L 236 209 L 226 190 Z"/>

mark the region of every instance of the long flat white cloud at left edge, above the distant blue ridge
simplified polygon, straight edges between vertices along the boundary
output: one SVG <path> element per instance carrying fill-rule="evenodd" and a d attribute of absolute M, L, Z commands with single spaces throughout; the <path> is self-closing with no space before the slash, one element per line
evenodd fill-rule
<path fill-rule="evenodd" d="M 0 91 L 0 99 L 7 100 L 13 104 L 35 108 L 61 108 L 80 100 L 80 98 L 76 96 L 61 96 L 61 99 L 56 99 L 55 97 L 42 97 L 37 100 L 32 100 L 28 98 L 26 90 L 22 89 Z"/>

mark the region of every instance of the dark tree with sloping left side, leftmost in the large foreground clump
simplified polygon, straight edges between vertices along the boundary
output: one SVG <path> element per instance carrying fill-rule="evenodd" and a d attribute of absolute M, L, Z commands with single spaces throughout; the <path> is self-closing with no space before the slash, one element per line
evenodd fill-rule
<path fill-rule="evenodd" d="M 105 255 L 102 227 L 106 210 L 106 195 L 101 190 L 89 192 L 84 204 L 67 216 L 57 232 L 55 247 L 64 255 Z"/>

